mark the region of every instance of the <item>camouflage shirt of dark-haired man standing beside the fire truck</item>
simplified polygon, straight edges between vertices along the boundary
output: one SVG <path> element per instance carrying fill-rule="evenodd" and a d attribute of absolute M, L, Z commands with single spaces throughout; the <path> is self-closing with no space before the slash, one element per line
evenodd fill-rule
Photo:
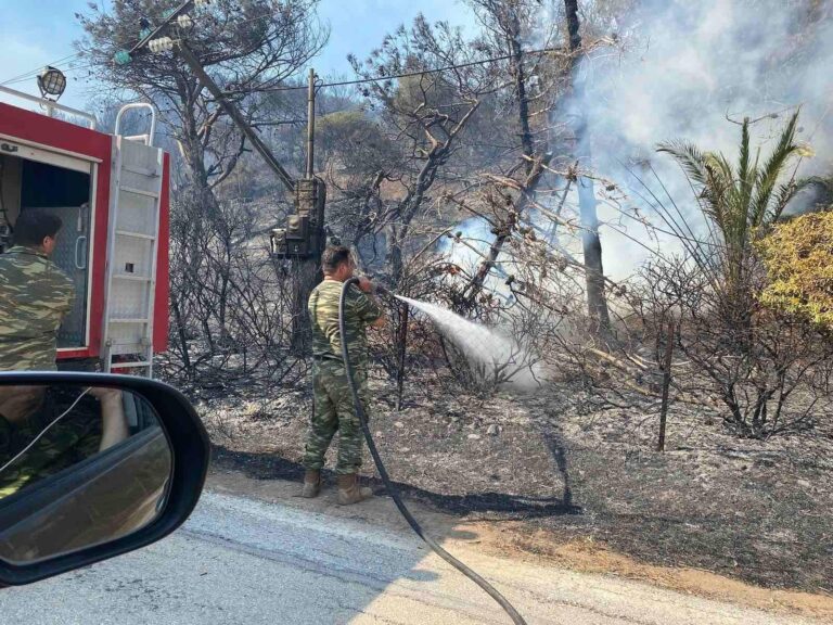
<path fill-rule="evenodd" d="M 46 255 L 21 245 L 0 254 L 0 371 L 54 370 L 74 298 L 73 281 Z"/>

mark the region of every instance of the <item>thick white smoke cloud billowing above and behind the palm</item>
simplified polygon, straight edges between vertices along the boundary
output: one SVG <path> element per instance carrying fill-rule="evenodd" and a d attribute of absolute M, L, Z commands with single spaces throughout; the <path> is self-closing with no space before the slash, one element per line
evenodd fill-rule
<path fill-rule="evenodd" d="M 807 25 L 808 2 L 790 0 L 645 0 L 618 33 L 620 48 L 597 50 L 586 65 L 588 117 L 593 152 L 590 167 L 618 183 L 631 205 L 645 208 L 654 199 L 640 176 L 665 204 L 670 200 L 646 166 L 656 171 L 690 222 L 702 231 L 691 188 L 656 144 L 684 139 L 703 150 L 718 150 L 735 161 L 741 122 L 753 125 L 753 142 L 771 140 L 790 114 L 802 106 L 798 140 L 809 142 L 816 158 L 799 175 L 831 170 L 833 20 Z M 805 39 L 797 41 L 798 37 Z M 787 52 L 800 43 L 798 59 Z M 787 61 L 790 61 L 787 63 Z M 778 117 L 766 117 L 777 113 Z M 770 145 L 771 146 L 771 145 Z M 768 152 L 765 145 L 762 155 Z M 597 184 L 605 272 L 614 279 L 631 273 L 657 247 L 644 227 L 605 205 Z M 642 197 L 640 197 L 642 195 Z M 648 200 L 648 202 L 645 202 Z M 573 199 L 575 204 L 576 199 Z M 659 224 L 656 216 L 652 222 Z M 617 232 L 627 233 L 639 241 Z M 658 235 L 658 248 L 677 242 Z"/>

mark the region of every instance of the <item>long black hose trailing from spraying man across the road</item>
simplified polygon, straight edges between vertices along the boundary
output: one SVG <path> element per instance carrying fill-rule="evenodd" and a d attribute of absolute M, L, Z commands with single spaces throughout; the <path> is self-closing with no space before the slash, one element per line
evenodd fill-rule
<path fill-rule="evenodd" d="M 347 347 L 347 332 L 346 332 L 346 326 L 345 326 L 345 319 L 344 319 L 344 303 L 347 298 L 347 291 L 348 289 L 357 284 L 359 282 L 358 278 L 351 278 L 347 280 L 344 283 L 344 286 L 342 286 L 342 295 L 338 299 L 338 333 L 342 339 L 342 357 L 344 358 L 344 368 L 345 372 L 347 374 L 347 380 L 349 381 L 350 385 L 350 392 L 353 394 L 353 404 L 356 409 L 356 414 L 359 417 L 359 421 L 361 423 L 361 431 L 364 433 L 364 439 L 368 442 L 368 448 L 370 449 L 370 455 L 373 457 L 373 462 L 376 464 L 376 469 L 379 470 L 379 474 L 382 475 L 382 482 L 385 484 L 385 488 L 387 488 L 387 492 L 390 494 L 390 497 L 394 499 L 394 503 L 396 503 L 396 507 L 399 509 L 399 512 L 401 512 L 402 516 L 405 516 L 405 520 L 408 521 L 408 524 L 411 526 L 411 528 L 416 533 L 416 535 L 422 538 L 425 544 L 431 547 L 434 552 L 443 558 L 446 562 L 451 564 L 454 569 L 460 571 L 463 575 L 469 577 L 472 582 L 477 584 L 480 588 L 483 588 L 489 597 L 495 599 L 501 608 L 507 612 L 507 614 L 510 615 L 512 618 L 512 622 L 515 623 L 515 625 L 526 625 L 526 621 L 524 621 L 523 616 L 517 613 L 517 610 L 514 609 L 512 603 L 510 603 L 503 595 L 498 592 L 498 590 L 486 579 L 480 577 L 477 573 L 472 571 L 469 566 L 460 562 L 457 558 L 451 556 L 448 551 L 443 549 L 431 536 L 425 534 L 422 526 L 419 524 L 416 519 L 413 518 L 410 510 L 405 507 L 405 502 L 402 501 L 402 498 L 399 495 L 399 492 L 396 489 L 394 484 L 390 482 L 390 476 L 387 474 L 387 470 L 385 469 L 384 463 L 382 462 L 382 458 L 379 456 L 379 450 L 376 449 L 375 443 L 373 443 L 373 436 L 370 434 L 370 428 L 368 426 L 368 416 L 364 412 L 364 407 L 361 404 L 361 398 L 359 397 L 359 390 L 356 385 L 356 379 L 354 378 L 354 370 L 353 370 L 353 363 L 350 362 L 350 354 L 349 348 Z"/>

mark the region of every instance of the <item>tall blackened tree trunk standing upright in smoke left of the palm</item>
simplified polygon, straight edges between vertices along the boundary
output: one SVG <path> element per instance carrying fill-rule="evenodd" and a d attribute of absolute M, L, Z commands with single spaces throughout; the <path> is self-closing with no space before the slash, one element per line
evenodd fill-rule
<path fill-rule="evenodd" d="M 590 166 L 592 151 L 590 149 L 590 132 L 587 127 L 587 115 L 584 109 L 585 80 L 587 73 L 581 44 L 581 34 L 578 22 L 578 0 L 564 0 L 567 12 L 567 31 L 569 33 L 569 50 L 573 53 L 573 136 L 575 138 L 575 157 L 579 166 Z M 599 239 L 599 217 L 595 211 L 595 191 L 591 178 L 579 176 L 578 208 L 581 215 L 581 242 L 585 252 L 585 273 L 587 280 L 587 308 L 590 316 L 591 332 L 606 339 L 611 334 L 611 316 L 607 310 L 607 299 L 604 295 L 604 268 L 602 267 L 602 242 Z"/>

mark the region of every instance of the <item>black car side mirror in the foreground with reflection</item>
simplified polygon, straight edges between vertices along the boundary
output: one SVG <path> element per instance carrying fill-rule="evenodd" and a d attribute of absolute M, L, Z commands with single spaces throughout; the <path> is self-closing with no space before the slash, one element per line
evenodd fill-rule
<path fill-rule="evenodd" d="M 193 407 L 161 382 L 0 373 L 0 587 L 167 536 L 196 506 L 209 456 Z"/>

